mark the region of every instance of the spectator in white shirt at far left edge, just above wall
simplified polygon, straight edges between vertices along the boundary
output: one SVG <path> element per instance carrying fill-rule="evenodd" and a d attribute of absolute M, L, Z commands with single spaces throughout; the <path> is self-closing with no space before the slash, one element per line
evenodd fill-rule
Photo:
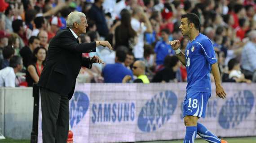
<path fill-rule="evenodd" d="M 15 87 L 16 73 L 22 70 L 22 58 L 13 56 L 9 67 L 0 70 L 0 87 Z"/>

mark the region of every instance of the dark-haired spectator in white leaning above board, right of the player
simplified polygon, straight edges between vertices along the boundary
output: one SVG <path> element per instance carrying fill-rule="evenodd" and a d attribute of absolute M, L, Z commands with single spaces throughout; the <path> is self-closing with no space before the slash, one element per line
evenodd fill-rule
<path fill-rule="evenodd" d="M 230 59 L 228 63 L 229 71 L 222 76 L 222 82 L 246 82 L 252 83 L 251 80 L 244 78 L 243 73 L 240 71 L 240 63 L 237 59 Z"/>

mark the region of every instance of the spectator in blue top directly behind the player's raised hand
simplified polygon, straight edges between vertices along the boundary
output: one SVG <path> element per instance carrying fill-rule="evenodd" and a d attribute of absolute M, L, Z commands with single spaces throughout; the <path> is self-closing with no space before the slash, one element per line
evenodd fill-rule
<path fill-rule="evenodd" d="M 169 29 L 162 29 L 161 30 L 162 40 L 157 42 L 154 47 L 157 65 L 162 65 L 164 62 L 164 58 L 167 55 L 175 55 L 175 51 L 172 50 L 172 47 L 169 44 L 169 35 L 170 35 Z"/>

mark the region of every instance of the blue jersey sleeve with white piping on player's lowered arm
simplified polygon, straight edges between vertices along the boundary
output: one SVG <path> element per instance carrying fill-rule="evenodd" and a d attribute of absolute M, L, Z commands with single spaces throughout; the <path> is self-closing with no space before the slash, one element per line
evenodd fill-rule
<path fill-rule="evenodd" d="M 203 54 L 210 65 L 217 63 L 215 51 L 210 39 L 204 39 L 201 43 L 197 42 L 201 46 Z"/>

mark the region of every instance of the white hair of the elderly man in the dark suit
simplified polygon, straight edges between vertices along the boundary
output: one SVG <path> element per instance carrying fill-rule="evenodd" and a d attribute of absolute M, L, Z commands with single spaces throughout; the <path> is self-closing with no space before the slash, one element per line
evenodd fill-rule
<path fill-rule="evenodd" d="M 66 26 L 69 28 L 73 28 L 73 24 L 75 22 L 79 23 L 81 22 L 81 17 L 86 17 L 84 13 L 81 12 L 72 12 L 70 13 L 66 18 Z"/>

